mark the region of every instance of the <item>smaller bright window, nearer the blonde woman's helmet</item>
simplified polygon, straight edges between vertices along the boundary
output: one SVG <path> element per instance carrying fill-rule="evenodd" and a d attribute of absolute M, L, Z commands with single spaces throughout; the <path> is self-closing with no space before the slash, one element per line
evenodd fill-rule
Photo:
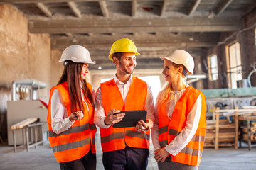
<path fill-rule="evenodd" d="M 208 74 L 210 80 L 218 79 L 218 59 L 217 55 L 212 55 L 207 58 L 208 60 Z"/>

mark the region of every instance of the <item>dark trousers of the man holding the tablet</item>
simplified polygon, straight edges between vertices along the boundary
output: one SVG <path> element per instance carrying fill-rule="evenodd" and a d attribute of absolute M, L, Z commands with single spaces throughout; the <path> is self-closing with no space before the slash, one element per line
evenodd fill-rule
<path fill-rule="evenodd" d="M 149 149 L 125 147 L 125 149 L 103 152 L 105 170 L 146 170 Z"/>

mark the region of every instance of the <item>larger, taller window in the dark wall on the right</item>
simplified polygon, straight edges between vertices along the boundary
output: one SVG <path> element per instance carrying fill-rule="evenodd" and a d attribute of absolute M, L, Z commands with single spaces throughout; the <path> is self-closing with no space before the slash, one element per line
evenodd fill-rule
<path fill-rule="evenodd" d="M 228 47 L 229 54 L 229 72 L 230 72 L 230 83 L 231 88 L 237 88 L 237 81 L 242 80 L 242 65 L 240 55 L 240 44 L 235 42 L 233 45 Z"/>

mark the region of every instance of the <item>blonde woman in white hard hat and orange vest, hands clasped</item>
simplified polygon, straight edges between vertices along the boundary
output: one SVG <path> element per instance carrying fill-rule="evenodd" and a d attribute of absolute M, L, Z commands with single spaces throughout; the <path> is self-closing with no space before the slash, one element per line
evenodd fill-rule
<path fill-rule="evenodd" d="M 161 59 L 168 84 L 156 101 L 154 157 L 159 170 L 198 169 L 206 134 L 206 98 L 186 84 L 186 74 L 193 74 L 193 57 L 184 50 L 175 50 Z"/>

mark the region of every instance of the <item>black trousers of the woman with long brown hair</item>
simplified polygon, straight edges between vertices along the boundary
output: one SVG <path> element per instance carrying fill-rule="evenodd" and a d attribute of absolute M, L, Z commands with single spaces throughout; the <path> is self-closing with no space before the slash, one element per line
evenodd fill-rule
<path fill-rule="evenodd" d="M 61 170 L 96 170 L 96 154 L 92 154 L 90 150 L 81 159 L 71 161 L 71 162 L 61 162 L 60 169 Z"/>

